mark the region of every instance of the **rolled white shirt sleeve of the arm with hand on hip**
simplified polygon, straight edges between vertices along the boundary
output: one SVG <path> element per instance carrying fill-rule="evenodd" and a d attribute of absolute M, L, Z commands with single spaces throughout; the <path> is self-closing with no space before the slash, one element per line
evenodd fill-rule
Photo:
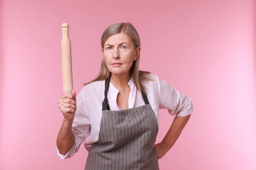
<path fill-rule="evenodd" d="M 160 92 L 160 109 L 167 109 L 169 114 L 187 116 L 193 112 L 192 99 L 169 86 L 167 82 L 158 78 Z"/>

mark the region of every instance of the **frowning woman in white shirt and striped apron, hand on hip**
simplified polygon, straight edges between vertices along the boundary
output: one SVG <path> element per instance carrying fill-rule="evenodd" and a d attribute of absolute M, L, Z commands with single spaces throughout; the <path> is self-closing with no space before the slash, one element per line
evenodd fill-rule
<path fill-rule="evenodd" d="M 75 97 L 62 95 L 64 120 L 57 137 L 61 159 L 85 141 L 85 169 L 159 169 L 193 110 L 190 98 L 149 72 L 139 71 L 140 39 L 130 23 L 113 24 L 102 34 L 100 74 Z M 158 110 L 175 119 L 161 143 Z"/>

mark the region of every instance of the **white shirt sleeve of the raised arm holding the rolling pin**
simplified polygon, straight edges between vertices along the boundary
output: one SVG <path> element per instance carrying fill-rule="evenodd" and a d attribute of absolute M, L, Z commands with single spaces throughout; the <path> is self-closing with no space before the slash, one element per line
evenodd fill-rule
<path fill-rule="evenodd" d="M 60 154 L 57 148 L 57 154 L 61 160 L 74 156 L 75 152 L 79 150 L 80 145 L 85 142 L 85 138 L 90 134 L 91 122 L 87 112 L 83 90 L 81 90 L 81 92 L 79 92 L 77 95 L 76 102 L 77 109 L 75 111 L 75 117 L 72 124 L 72 132 L 75 137 L 75 143 L 65 155 Z"/>

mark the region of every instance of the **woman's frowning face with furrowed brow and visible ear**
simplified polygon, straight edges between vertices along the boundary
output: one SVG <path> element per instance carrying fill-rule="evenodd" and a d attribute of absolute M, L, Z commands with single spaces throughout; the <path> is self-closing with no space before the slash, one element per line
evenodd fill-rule
<path fill-rule="evenodd" d="M 133 61 L 138 58 L 140 48 L 135 49 L 131 38 L 125 33 L 109 37 L 102 49 L 108 71 L 112 75 L 129 75 Z"/>

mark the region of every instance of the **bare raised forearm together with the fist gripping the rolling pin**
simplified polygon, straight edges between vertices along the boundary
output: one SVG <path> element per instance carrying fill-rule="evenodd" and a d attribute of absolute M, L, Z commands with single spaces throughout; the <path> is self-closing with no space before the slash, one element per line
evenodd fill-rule
<path fill-rule="evenodd" d="M 72 123 L 76 109 L 75 91 L 73 90 L 70 94 L 64 94 L 58 100 L 58 107 L 62 111 L 64 120 L 58 132 L 56 145 L 60 154 L 65 155 L 75 143 L 75 137 L 72 133 Z"/>

